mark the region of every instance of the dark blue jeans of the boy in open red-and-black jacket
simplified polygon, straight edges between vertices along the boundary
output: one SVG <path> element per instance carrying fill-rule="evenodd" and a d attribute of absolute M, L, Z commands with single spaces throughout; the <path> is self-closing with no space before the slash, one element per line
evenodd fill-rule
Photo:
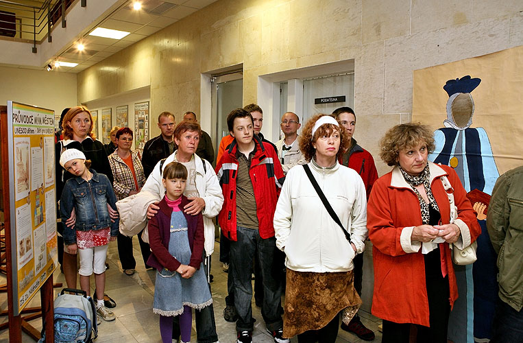
<path fill-rule="evenodd" d="M 254 254 L 258 254 L 260 269 L 263 276 L 262 316 L 269 331 L 282 329 L 283 320 L 280 315 L 282 296 L 281 283 L 272 276 L 273 257 L 276 248 L 276 238 L 263 239 L 258 230 L 238 226 L 237 241 L 230 242 L 230 267 L 232 269 L 234 307 L 238 313 L 236 331 L 252 331 L 252 280 L 251 270 Z"/>

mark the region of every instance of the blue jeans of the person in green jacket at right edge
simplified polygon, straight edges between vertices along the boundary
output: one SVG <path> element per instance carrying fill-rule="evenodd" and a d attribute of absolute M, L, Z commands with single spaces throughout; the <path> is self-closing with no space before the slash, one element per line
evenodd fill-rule
<path fill-rule="evenodd" d="M 523 309 L 516 311 L 498 296 L 490 343 L 523 342 Z"/>

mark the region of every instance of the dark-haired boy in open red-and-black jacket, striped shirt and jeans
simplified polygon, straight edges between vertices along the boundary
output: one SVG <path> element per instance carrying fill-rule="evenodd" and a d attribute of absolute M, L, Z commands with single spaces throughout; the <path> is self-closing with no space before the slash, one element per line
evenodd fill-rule
<path fill-rule="evenodd" d="M 238 343 L 251 343 L 251 270 L 258 254 L 263 274 L 262 316 L 276 343 L 282 338 L 280 315 L 281 283 L 271 273 L 276 250 L 273 215 L 284 174 L 274 149 L 254 135 L 252 115 L 243 108 L 233 110 L 227 125 L 234 141 L 217 163 L 216 172 L 223 191 L 223 207 L 218 221 L 230 242 L 230 269 L 234 279 L 234 306 L 238 313 Z"/>

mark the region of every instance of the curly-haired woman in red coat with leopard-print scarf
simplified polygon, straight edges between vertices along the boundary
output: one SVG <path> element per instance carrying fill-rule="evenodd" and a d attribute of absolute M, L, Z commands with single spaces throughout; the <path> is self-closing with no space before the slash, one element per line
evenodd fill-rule
<path fill-rule="evenodd" d="M 367 228 L 373 246 L 372 314 L 383 319 L 382 342 L 447 342 L 448 315 L 458 297 L 450 244 L 465 248 L 481 233 L 456 172 L 428 162 L 433 133 L 419 123 L 394 126 L 380 142 L 394 166 L 372 188 Z M 448 179 L 457 211 L 450 209 Z M 451 224 L 452 223 L 452 224 Z"/>

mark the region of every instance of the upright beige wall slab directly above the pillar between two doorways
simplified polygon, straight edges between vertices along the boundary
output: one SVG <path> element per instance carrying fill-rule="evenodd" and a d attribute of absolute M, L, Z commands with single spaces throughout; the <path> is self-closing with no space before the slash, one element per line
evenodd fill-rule
<path fill-rule="evenodd" d="M 261 16 L 252 16 L 239 22 L 239 49 L 243 64 L 257 67 L 261 63 L 262 47 Z"/>

